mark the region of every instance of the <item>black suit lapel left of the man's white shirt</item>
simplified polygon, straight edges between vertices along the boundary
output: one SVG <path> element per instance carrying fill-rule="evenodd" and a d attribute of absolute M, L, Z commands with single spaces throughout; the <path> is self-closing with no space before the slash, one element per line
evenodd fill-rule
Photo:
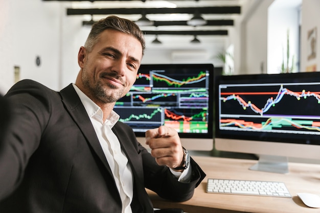
<path fill-rule="evenodd" d="M 73 88 L 73 85 L 70 84 L 60 91 L 62 102 L 72 116 L 75 123 L 78 125 L 79 129 L 83 133 L 84 137 L 88 141 L 89 145 L 93 148 L 96 154 L 99 156 L 105 167 L 107 168 L 110 175 L 113 177 L 109 164 L 106 160 L 106 157 L 103 153 L 99 139 L 96 135 L 96 131 L 92 126 L 92 123 L 85 111 L 84 106 L 81 103 L 81 100 Z"/>

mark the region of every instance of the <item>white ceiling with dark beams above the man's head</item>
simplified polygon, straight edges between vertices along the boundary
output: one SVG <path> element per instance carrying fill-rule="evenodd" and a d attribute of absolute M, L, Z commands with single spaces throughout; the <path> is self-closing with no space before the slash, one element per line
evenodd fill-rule
<path fill-rule="evenodd" d="M 149 49 L 217 49 L 221 52 L 229 31 L 234 27 L 236 18 L 241 16 L 242 7 L 250 0 L 42 0 L 67 3 L 67 16 L 77 16 L 81 24 L 92 24 L 107 15 L 118 15 L 136 21 L 145 13 L 154 24 L 141 26 Z M 203 26 L 189 26 L 195 12 L 207 20 Z M 151 41 L 162 41 L 161 47 Z M 201 43 L 190 44 L 198 38 Z M 188 44 L 188 45 L 186 45 Z"/>

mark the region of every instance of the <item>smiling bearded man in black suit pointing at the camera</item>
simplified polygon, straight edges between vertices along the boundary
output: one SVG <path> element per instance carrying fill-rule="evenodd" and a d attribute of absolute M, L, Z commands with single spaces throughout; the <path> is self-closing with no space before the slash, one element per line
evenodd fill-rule
<path fill-rule="evenodd" d="M 192 197 L 205 174 L 175 130 L 146 132 L 151 154 L 112 109 L 136 79 L 145 41 L 132 21 L 97 22 L 78 54 L 76 83 L 60 92 L 23 80 L 0 150 L 0 212 L 153 212 L 145 191 L 173 201 Z"/>

